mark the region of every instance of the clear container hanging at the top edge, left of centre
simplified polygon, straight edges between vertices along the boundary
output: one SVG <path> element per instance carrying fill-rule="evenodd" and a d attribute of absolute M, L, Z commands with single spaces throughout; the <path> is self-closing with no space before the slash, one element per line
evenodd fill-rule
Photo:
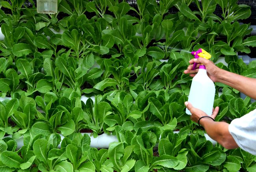
<path fill-rule="evenodd" d="M 58 0 L 37 0 L 37 13 L 55 14 L 58 12 Z"/>

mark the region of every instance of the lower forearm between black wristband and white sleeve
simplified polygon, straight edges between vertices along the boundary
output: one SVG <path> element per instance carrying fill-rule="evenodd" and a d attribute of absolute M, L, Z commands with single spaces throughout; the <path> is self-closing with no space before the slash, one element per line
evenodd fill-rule
<path fill-rule="evenodd" d="M 231 136 L 228 130 L 228 123 L 215 122 L 209 118 L 203 118 L 200 120 L 200 124 L 202 125 L 202 127 L 204 127 L 208 136 L 220 143 L 223 147 L 228 149 L 238 147 L 236 141 Z"/>

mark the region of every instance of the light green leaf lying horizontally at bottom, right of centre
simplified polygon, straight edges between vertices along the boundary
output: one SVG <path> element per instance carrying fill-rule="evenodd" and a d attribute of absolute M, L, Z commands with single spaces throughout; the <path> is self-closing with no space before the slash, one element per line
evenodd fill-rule
<path fill-rule="evenodd" d="M 161 165 L 167 168 L 174 168 L 176 165 L 178 165 L 178 159 L 173 156 L 162 155 L 154 159 L 152 166 L 154 167 L 156 165 Z"/>

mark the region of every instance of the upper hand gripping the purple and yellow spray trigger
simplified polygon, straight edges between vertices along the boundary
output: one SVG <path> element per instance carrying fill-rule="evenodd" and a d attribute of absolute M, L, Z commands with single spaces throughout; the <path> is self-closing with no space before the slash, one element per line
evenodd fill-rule
<path fill-rule="evenodd" d="M 187 67 L 187 69 L 184 71 L 185 74 L 189 74 L 189 76 L 194 77 L 197 72 L 198 72 L 198 67 L 203 64 L 206 67 L 206 71 L 207 74 L 209 76 L 209 78 L 213 81 L 213 82 L 217 82 L 218 78 L 219 78 L 219 74 L 221 73 L 221 70 L 219 67 L 217 67 L 213 62 L 211 62 L 210 60 L 207 60 L 205 58 L 194 58 L 189 60 L 189 63 L 191 65 L 189 65 Z M 192 70 L 193 64 L 194 63 L 198 63 L 197 64 L 197 68 L 195 70 Z"/>

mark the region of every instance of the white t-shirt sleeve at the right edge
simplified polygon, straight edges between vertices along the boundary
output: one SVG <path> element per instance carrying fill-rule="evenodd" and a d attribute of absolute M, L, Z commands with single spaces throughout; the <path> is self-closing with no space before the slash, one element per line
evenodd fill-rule
<path fill-rule="evenodd" d="M 232 120 L 228 130 L 241 149 L 256 155 L 256 109 Z"/>

